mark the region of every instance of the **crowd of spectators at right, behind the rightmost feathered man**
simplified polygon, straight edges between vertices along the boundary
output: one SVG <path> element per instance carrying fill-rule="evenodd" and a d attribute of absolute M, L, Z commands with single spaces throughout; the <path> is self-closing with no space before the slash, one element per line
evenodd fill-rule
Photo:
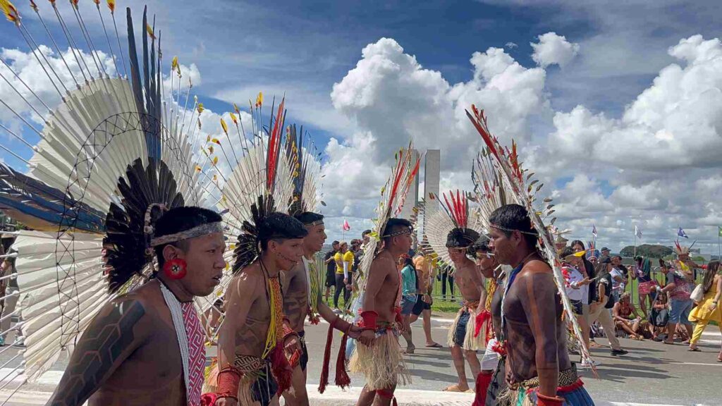
<path fill-rule="evenodd" d="M 593 336 L 603 332 L 612 355 L 627 354 L 617 335 L 666 345 L 681 342 L 690 351 L 700 351 L 697 342 L 705 327 L 710 321 L 718 325 L 722 322 L 718 308 L 722 290 L 719 261 L 700 266 L 690 259 L 689 249 L 677 243 L 676 259 L 657 259 L 659 272 L 664 275 L 664 283 L 660 283 L 653 277 L 652 259 L 637 256 L 625 266 L 622 257 L 611 256 L 606 247 L 587 250 L 578 240 L 567 246 L 561 236 L 555 243 L 563 261 L 567 294 L 588 347 L 599 347 Z M 695 283 L 695 270 L 703 272 L 699 285 Z M 639 308 L 632 303 L 632 292 L 627 289 L 632 287 L 632 280 L 638 282 Z M 722 350 L 717 359 L 722 362 Z M 595 363 L 599 365 L 599 361 Z M 584 361 L 582 365 L 587 366 Z"/>

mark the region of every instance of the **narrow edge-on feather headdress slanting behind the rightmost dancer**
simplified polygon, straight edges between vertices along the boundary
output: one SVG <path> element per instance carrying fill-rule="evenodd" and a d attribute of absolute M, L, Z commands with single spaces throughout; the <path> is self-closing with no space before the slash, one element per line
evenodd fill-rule
<path fill-rule="evenodd" d="M 479 111 L 476 106 L 471 105 L 471 112 L 466 111 L 466 116 L 469 117 L 469 120 L 471 120 L 471 123 L 474 124 L 474 127 L 479 131 L 479 135 L 481 135 L 484 140 L 484 144 L 486 144 L 487 151 L 493 159 L 497 173 L 511 192 L 510 197 L 512 198 L 512 202 L 526 207 L 526 210 L 529 212 L 531 225 L 536 232 L 539 233 L 541 254 L 547 259 L 547 262 L 549 262 L 553 269 L 554 281 L 557 284 L 557 290 L 559 290 L 562 296 L 562 304 L 567 317 L 573 324 L 575 336 L 580 342 L 583 342 L 581 329 L 573 316 L 572 305 L 565 289 L 564 276 L 562 275 L 560 266 L 561 262 L 557 257 L 557 251 L 554 249 L 554 238 L 542 220 L 542 217 L 549 217 L 549 215 L 552 215 L 554 212 L 552 209 L 553 204 L 549 204 L 551 199 L 544 199 L 544 207 L 534 207 L 536 202 L 535 195 L 543 184 L 536 186 L 538 181 L 531 180 L 534 173 L 527 174 L 526 170 L 522 168 L 516 152 L 516 142 L 512 141 L 511 150 L 503 147 L 499 140 L 490 133 L 484 111 Z M 555 220 L 556 218 L 552 218 L 549 225 L 553 225 Z M 583 345 L 581 346 L 581 351 L 584 359 L 591 360 L 588 349 Z"/>

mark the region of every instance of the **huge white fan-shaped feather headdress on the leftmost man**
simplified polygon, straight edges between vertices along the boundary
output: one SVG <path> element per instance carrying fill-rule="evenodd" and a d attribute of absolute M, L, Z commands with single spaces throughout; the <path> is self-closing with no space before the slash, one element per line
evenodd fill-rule
<path fill-rule="evenodd" d="M 65 27 L 62 38 L 45 31 L 53 39 L 58 64 L 51 64 L 51 56 L 39 51 L 31 27 L 25 26 L 25 21 L 40 20 L 40 27 L 45 27 L 40 7 L 32 7 L 37 20 L 20 20 L 17 10 L 9 8 L 31 57 L 45 74 L 43 81 L 26 82 L 12 64 L 0 59 L 5 68 L 0 77 L 17 94 L 14 100 L 0 100 L 14 115 L 12 126 L 0 124 L 12 136 L 13 142 L 0 148 L 12 155 L 8 161 L 14 166 L 0 166 L 0 207 L 35 228 L 22 231 L 14 244 L 19 253 L 24 335 L 20 340 L 27 346 L 23 365 L 31 381 L 50 368 L 62 350 L 72 350 L 105 303 L 152 275 L 154 259 L 147 251 L 152 225 L 145 217 L 160 215 L 152 207 L 213 210 L 222 198 L 219 177 L 224 176 L 218 168 L 222 161 L 212 146 L 203 146 L 196 116 L 202 113 L 201 103 L 193 98 L 192 108 L 188 105 L 191 86 L 181 92 L 175 62 L 169 70 L 169 89 L 168 80 L 163 80 L 160 30 L 149 24 L 144 10 L 139 31 L 142 49 L 136 49 L 136 30 L 127 9 L 128 39 L 123 46 L 115 3 L 108 5 L 116 27 L 115 49 L 108 33 L 95 43 L 90 39 L 82 9 L 71 4 L 78 24 L 74 27 L 62 20 L 58 4 L 51 1 L 49 14 Z M 85 38 L 87 50 L 74 48 L 74 36 Z M 105 40 L 108 49 L 101 53 L 94 44 Z M 68 52 L 58 48 L 65 42 L 72 44 Z M 110 59 L 104 61 L 104 54 Z M 59 105 L 51 107 L 40 97 L 42 92 L 33 90 L 40 82 L 52 85 Z M 35 119 L 30 121 L 13 108 L 18 105 L 27 106 Z M 44 126 L 38 128 L 35 122 Z M 25 134 L 40 140 L 31 144 Z M 206 141 L 223 147 L 210 136 Z M 226 147 L 233 143 L 229 140 Z M 18 163 L 27 164 L 27 172 L 18 169 Z M 230 228 L 225 231 L 227 238 L 235 237 Z M 216 298 L 215 293 L 196 298 L 196 306 L 204 311 Z"/>

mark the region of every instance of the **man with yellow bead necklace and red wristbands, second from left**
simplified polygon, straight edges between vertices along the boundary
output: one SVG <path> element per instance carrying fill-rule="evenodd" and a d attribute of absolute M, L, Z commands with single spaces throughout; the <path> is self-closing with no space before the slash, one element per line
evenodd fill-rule
<path fill-rule="evenodd" d="M 278 392 L 291 384 L 293 370 L 287 358 L 300 356 L 298 336 L 283 314 L 279 279 L 282 270 L 301 262 L 308 230 L 290 215 L 273 212 L 258 219 L 255 231 L 253 243 L 260 252 L 244 264 L 238 256 L 247 253 L 237 248 L 237 273 L 225 293 L 216 406 L 277 405 Z M 241 238 L 245 236 L 239 243 Z"/>

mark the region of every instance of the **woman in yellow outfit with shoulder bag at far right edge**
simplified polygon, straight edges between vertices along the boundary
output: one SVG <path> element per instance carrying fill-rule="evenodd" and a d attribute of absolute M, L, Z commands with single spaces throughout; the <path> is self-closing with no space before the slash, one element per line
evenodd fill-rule
<path fill-rule="evenodd" d="M 722 276 L 717 275 L 719 270 L 719 261 L 713 261 L 708 264 L 707 270 L 705 271 L 705 279 L 702 282 L 703 288 L 705 289 L 705 296 L 702 301 L 697 303 L 697 307 L 690 312 L 690 321 L 697 323 L 695 332 L 692 333 L 692 339 L 690 340 L 690 351 L 700 350 L 697 348 L 697 342 L 700 340 L 700 337 L 702 337 L 702 332 L 705 331 L 705 327 L 707 327 L 710 321 L 716 321 L 722 332 L 722 310 L 719 306 L 720 295 L 722 294 Z M 722 362 L 722 352 L 718 360 Z"/>

